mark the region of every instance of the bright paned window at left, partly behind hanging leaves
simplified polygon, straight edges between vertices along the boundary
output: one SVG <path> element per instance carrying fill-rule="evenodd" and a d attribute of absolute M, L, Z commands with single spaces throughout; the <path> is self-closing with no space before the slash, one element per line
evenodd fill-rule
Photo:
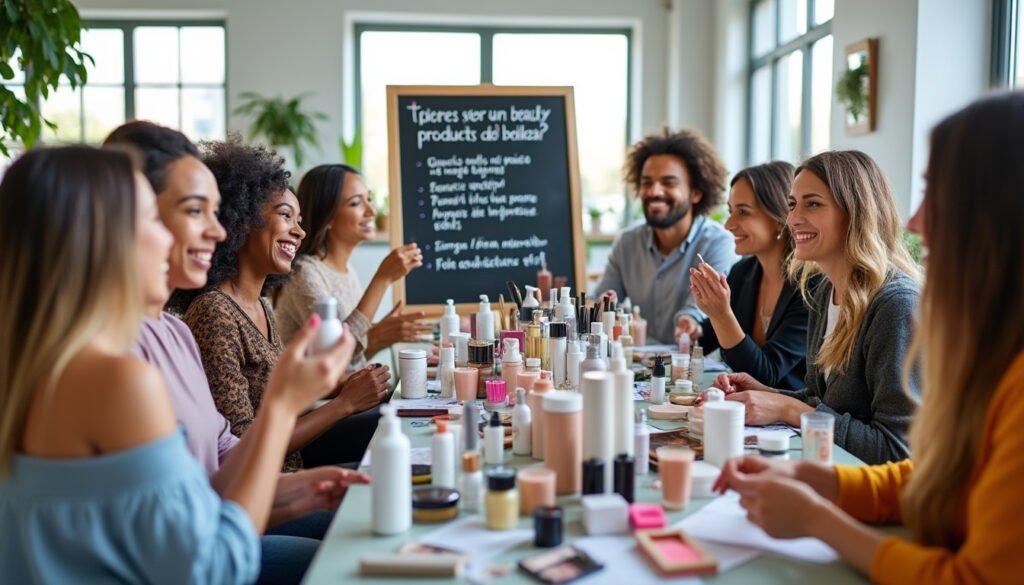
<path fill-rule="evenodd" d="M 92 22 L 82 32 L 88 81 L 67 81 L 42 106 L 56 124 L 47 142 L 99 142 L 134 118 L 176 128 L 194 140 L 225 132 L 222 23 Z M 19 73 L 20 75 L 20 73 Z M 15 78 L 19 82 L 23 78 Z"/>

